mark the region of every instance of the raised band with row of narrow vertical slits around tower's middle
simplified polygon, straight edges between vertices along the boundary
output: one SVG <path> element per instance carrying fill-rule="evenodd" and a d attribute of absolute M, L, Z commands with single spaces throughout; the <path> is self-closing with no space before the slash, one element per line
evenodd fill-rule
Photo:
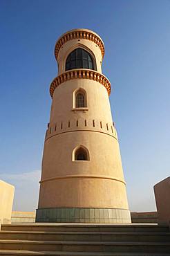
<path fill-rule="evenodd" d="M 63 120 L 53 125 L 48 124 L 46 131 L 46 140 L 58 134 L 63 134 L 70 131 L 94 131 L 108 136 L 112 136 L 117 140 L 117 132 L 113 123 L 102 122 L 101 120 L 88 120 L 88 119 L 73 119 Z"/>

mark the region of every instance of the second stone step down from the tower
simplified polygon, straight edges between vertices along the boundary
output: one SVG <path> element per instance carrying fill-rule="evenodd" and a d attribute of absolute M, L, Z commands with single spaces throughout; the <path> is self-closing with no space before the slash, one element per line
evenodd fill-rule
<path fill-rule="evenodd" d="M 0 239 L 37 241 L 170 241 L 170 232 L 1 231 Z"/>

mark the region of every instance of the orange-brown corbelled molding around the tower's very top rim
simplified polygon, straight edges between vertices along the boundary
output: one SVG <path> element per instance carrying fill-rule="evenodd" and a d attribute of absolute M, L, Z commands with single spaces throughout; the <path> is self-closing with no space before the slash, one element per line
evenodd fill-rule
<path fill-rule="evenodd" d="M 100 39 L 100 37 L 97 37 L 97 35 L 89 32 L 89 31 L 86 31 L 86 30 L 75 30 L 75 31 L 73 30 L 73 31 L 69 31 L 68 33 L 66 33 L 62 37 L 60 37 L 59 40 L 57 41 L 57 43 L 55 44 L 56 60 L 57 60 L 60 48 L 63 46 L 63 44 L 65 44 L 66 42 L 68 42 L 71 39 L 88 39 L 88 40 L 94 42 L 95 44 L 97 44 L 97 46 L 100 47 L 100 50 L 102 52 L 102 57 L 104 57 L 104 44 L 103 44 L 102 40 Z"/>

